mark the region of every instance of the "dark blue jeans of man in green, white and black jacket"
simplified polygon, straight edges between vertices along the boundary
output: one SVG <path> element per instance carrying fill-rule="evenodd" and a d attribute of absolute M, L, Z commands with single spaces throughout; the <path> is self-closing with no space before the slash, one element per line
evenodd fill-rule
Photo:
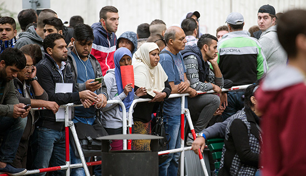
<path fill-rule="evenodd" d="M 228 106 L 221 115 L 223 121 L 244 107 L 243 101 L 241 100 L 242 95 L 244 95 L 244 91 L 228 92 Z"/>

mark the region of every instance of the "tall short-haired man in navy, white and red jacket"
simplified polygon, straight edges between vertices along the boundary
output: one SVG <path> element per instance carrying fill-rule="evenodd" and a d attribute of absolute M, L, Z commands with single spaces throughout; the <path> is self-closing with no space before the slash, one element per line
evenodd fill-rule
<path fill-rule="evenodd" d="M 114 53 L 116 50 L 116 35 L 119 24 L 118 10 L 114 6 L 105 6 L 100 10 L 100 22 L 94 23 L 91 28 L 95 39 L 91 54 L 99 61 L 102 74 L 110 68 L 115 68 Z"/>

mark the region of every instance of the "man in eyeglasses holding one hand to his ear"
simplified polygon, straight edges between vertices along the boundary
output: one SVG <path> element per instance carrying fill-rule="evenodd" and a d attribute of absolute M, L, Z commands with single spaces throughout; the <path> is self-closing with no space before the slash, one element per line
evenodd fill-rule
<path fill-rule="evenodd" d="M 24 47 L 26 47 L 26 45 Z M 34 55 L 34 52 L 31 53 L 29 50 L 23 50 L 24 47 L 20 50 L 25 55 L 27 64 L 24 69 L 17 73 L 17 78 L 14 78 L 17 98 L 20 103 L 24 103 L 25 105 L 31 104 L 32 108 L 45 107 L 48 110 L 52 110 L 55 114 L 59 106 L 56 102 L 46 101 L 48 100 L 48 94 L 38 84 L 36 67 L 33 65 L 32 58 L 34 56 L 32 55 Z M 39 111 L 32 111 L 28 114 L 27 124 L 21 137 L 15 159 L 12 163 L 15 168 L 26 168 L 29 137 L 33 134 L 34 124 L 38 119 L 38 114 Z"/>

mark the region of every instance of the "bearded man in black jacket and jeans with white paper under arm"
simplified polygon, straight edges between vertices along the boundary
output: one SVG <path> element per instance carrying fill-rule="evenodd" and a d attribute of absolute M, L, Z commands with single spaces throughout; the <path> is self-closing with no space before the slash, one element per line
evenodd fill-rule
<path fill-rule="evenodd" d="M 43 40 L 45 58 L 38 62 L 37 78 L 40 86 L 47 92 L 49 101 L 55 101 L 58 105 L 67 103 L 80 104 L 89 107 L 99 103 L 98 95 L 90 90 L 77 91 L 70 67 L 67 66 L 67 52 L 64 36 L 51 33 Z M 57 83 L 73 84 L 73 91 L 67 93 L 55 93 Z M 65 165 L 65 124 L 64 121 L 56 121 L 51 110 L 43 110 L 36 122 L 33 133 L 33 169 L 47 168 Z M 64 175 L 65 171 L 56 171 Z M 44 176 L 45 173 L 37 174 Z"/>

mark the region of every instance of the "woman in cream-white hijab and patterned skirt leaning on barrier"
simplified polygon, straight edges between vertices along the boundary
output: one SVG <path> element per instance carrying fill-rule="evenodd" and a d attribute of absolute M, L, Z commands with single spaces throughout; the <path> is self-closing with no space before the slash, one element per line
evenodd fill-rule
<path fill-rule="evenodd" d="M 140 98 L 151 98 L 149 102 L 137 103 L 134 108 L 134 133 L 151 134 L 152 114 L 156 113 L 159 102 L 171 93 L 168 76 L 159 61 L 159 48 L 155 43 L 144 43 L 133 55 L 135 59 L 135 89 L 147 88 L 147 95 Z M 133 140 L 132 149 L 150 150 L 151 140 Z"/>

